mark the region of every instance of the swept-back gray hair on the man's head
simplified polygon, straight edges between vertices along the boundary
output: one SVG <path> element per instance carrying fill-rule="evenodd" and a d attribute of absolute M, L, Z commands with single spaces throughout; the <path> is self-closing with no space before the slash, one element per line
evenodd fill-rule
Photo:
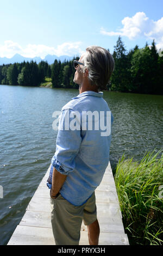
<path fill-rule="evenodd" d="M 90 46 L 83 54 L 81 71 L 89 71 L 89 80 L 98 90 L 105 90 L 115 69 L 115 61 L 109 51 L 100 46 Z"/>

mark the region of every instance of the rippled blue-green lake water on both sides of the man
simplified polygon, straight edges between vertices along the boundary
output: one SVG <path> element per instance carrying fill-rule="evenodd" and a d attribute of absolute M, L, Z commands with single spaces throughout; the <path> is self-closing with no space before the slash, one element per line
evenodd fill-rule
<path fill-rule="evenodd" d="M 0 245 L 9 241 L 54 155 L 53 112 L 78 94 L 77 89 L 0 86 Z M 104 92 L 104 99 L 114 115 L 112 169 L 123 153 L 137 161 L 162 148 L 163 96 Z"/>

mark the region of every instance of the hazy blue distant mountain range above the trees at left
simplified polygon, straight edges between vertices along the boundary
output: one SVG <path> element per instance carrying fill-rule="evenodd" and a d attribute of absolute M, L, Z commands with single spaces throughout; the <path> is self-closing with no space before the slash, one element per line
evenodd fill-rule
<path fill-rule="evenodd" d="M 15 62 L 18 62 L 18 63 L 21 63 L 21 62 L 30 62 L 31 60 L 33 60 L 34 62 L 36 62 L 37 64 L 39 62 L 41 62 L 41 60 L 43 61 L 47 61 L 47 63 L 49 65 L 53 64 L 54 63 L 54 60 L 57 59 L 57 60 L 60 60 L 61 62 L 64 62 L 65 60 L 72 60 L 73 57 L 70 57 L 70 56 L 66 56 L 66 55 L 62 55 L 60 57 L 56 56 L 56 55 L 50 55 L 48 54 L 47 56 L 45 56 L 44 59 L 41 59 L 40 57 L 34 57 L 34 58 L 27 58 L 27 57 L 23 57 L 21 56 L 20 54 L 16 53 L 12 58 L 7 58 L 7 57 L 3 57 L 1 58 L 0 57 L 0 65 L 3 65 L 3 64 L 13 64 Z"/>

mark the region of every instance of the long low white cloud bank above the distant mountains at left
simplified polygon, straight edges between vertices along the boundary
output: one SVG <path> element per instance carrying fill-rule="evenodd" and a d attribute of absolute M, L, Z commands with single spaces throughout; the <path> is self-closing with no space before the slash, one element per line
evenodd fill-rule
<path fill-rule="evenodd" d="M 19 53 L 23 57 L 41 57 L 45 58 L 47 54 L 51 55 L 67 55 L 67 56 L 76 56 L 83 53 L 80 45 L 82 42 L 64 42 L 61 45 L 58 45 L 56 48 L 50 47 L 47 45 L 35 45 L 28 44 L 26 47 L 21 47 L 17 42 L 11 40 L 4 41 L 4 45 L 0 45 L 0 57 L 11 58 L 14 54 Z"/>

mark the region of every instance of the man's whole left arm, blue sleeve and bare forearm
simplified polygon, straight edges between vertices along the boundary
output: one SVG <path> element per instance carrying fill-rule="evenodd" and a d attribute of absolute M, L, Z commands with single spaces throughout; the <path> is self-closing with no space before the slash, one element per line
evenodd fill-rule
<path fill-rule="evenodd" d="M 61 112 L 61 117 L 59 120 L 59 130 L 56 141 L 56 150 L 52 158 L 53 175 L 52 175 L 52 189 L 51 197 L 56 198 L 57 193 L 60 191 L 62 185 L 64 184 L 68 174 L 73 172 L 75 167 L 75 157 L 80 149 L 80 144 L 82 143 L 82 137 L 80 135 L 80 129 L 72 130 L 71 127 L 67 130 L 65 128 L 65 123 L 67 121 L 71 122 L 73 119 L 70 117 L 72 109 L 64 109 Z M 80 121 L 80 116 L 78 117 Z M 79 123 L 80 125 L 80 123 Z M 79 126 L 80 127 L 80 126 Z"/>

